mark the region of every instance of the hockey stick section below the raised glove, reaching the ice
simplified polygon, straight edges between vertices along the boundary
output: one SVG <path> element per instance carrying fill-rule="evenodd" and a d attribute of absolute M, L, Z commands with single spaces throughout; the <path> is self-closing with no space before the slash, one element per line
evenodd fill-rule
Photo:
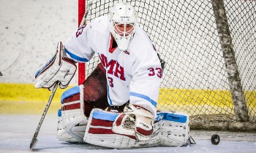
<path fill-rule="evenodd" d="M 31 143 L 30 143 L 30 149 L 32 150 L 32 149 L 34 149 L 34 146 L 36 146 L 36 144 L 37 144 L 37 136 L 38 136 L 38 133 L 39 133 L 39 130 L 40 130 L 40 128 L 41 128 L 41 125 L 42 125 L 42 122 L 44 121 L 44 119 L 45 119 L 45 115 L 46 115 L 46 113 L 47 113 L 47 111 L 48 111 L 48 109 L 49 109 L 49 107 L 50 107 L 50 103 L 51 103 L 51 101 L 53 100 L 53 96 L 54 96 L 54 94 L 56 93 L 56 90 L 57 90 L 57 88 L 59 87 L 59 82 L 57 82 L 55 85 L 54 85 L 54 87 L 53 87 L 53 92 L 50 94 L 50 98 L 49 98 L 49 100 L 48 100 L 48 103 L 47 103 L 47 105 L 45 106 L 45 111 L 42 113 L 42 117 L 41 117 L 41 119 L 40 119 L 40 122 L 39 122 L 39 124 L 37 125 L 37 130 L 34 132 L 34 136 L 33 136 L 33 138 L 32 138 L 32 140 L 31 140 Z"/>

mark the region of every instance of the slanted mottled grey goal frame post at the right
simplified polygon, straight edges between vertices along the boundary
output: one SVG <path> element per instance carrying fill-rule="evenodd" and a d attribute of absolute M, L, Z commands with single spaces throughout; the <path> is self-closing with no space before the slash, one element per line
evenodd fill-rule
<path fill-rule="evenodd" d="M 225 66 L 227 71 L 227 79 L 232 95 L 233 106 L 237 121 L 249 121 L 246 101 L 241 86 L 241 79 L 239 76 L 238 66 L 236 64 L 235 52 L 233 50 L 232 37 L 230 28 L 227 23 L 227 15 L 223 0 L 211 0 L 214 10 L 215 22 L 219 35 L 219 43 L 223 52 Z"/>

